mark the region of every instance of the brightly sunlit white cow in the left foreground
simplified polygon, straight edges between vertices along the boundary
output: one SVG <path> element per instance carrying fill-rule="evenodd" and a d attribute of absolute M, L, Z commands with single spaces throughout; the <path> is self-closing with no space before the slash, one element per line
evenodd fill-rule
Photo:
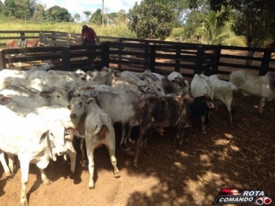
<path fill-rule="evenodd" d="M 44 169 L 50 159 L 56 161 L 57 155 L 65 154 L 66 130 L 61 121 L 43 121 L 35 114 L 22 117 L 2 105 L 0 105 L 0 113 L 5 116 L 5 121 L 1 122 L 0 154 L 18 156 L 22 182 L 20 203 L 28 205 L 26 185 L 29 181 L 30 163 L 38 166 L 42 181 L 46 184 L 50 183 Z"/>

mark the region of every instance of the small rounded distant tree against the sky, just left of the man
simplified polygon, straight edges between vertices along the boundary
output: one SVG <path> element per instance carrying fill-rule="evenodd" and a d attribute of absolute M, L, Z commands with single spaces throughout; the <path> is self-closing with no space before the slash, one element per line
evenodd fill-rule
<path fill-rule="evenodd" d="M 48 16 L 49 20 L 57 22 L 70 21 L 71 19 L 68 10 L 57 5 L 48 9 Z"/>

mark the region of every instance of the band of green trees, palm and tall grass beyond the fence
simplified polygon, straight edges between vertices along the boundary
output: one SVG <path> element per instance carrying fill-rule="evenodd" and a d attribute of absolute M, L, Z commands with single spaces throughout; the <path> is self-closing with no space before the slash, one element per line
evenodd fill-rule
<path fill-rule="evenodd" d="M 274 0 L 143 0 L 128 12 L 104 10 L 102 16 L 97 9 L 72 16 L 37 0 L 5 0 L 0 1 L 0 30 L 80 33 L 85 23 L 100 36 L 268 47 L 275 41 L 274 10 Z"/>

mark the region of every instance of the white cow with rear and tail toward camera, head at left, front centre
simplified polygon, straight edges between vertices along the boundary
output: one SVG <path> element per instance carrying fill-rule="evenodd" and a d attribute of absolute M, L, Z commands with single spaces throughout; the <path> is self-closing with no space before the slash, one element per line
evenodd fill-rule
<path fill-rule="evenodd" d="M 107 146 L 114 167 L 115 178 L 119 178 L 120 174 L 115 156 L 115 130 L 111 117 L 96 104 L 94 98 L 74 97 L 71 99 L 70 105 L 72 122 L 78 125 L 81 119 L 84 121 L 90 172 L 89 188 L 94 188 L 94 150 L 100 144 Z"/>

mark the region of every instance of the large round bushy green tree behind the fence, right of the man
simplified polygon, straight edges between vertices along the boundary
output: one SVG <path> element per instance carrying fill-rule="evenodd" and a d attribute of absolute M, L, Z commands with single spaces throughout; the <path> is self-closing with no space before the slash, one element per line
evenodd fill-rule
<path fill-rule="evenodd" d="M 171 34 L 175 13 L 168 0 L 144 0 L 128 13 L 129 28 L 138 38 L 160 38 Z"/>

